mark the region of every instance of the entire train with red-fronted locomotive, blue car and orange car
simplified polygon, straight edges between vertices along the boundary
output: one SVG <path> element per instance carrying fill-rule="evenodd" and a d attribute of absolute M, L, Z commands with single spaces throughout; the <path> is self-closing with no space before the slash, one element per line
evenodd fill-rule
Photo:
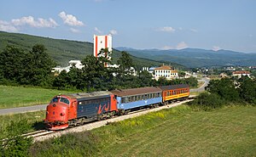
<path fill-rule="evenodd" d="M 49 130 L 61 130 L 188 97 L 189 85 L 183 84 L 57 95 L 47 106 L 44 123 Z"/>

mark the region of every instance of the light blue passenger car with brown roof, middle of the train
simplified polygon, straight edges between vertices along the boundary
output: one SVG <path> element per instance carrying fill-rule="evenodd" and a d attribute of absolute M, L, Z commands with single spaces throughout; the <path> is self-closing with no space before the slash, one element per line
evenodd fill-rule
<path fill-rule="evenodd" d="M 135 109 L 162 103 L 160 87 L 141 87 L 111 91 L 116 96 L 119 110 Z"/>

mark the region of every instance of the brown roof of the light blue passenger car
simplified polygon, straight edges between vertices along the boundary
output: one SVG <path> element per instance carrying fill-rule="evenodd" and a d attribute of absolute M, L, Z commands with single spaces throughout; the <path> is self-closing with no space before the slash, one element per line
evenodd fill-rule
<path fill-rule="evenodd" d="M 162 90 L 160 87 L 140 87 L 140 88 L 131 88 L 131 89 L 116 89 L 111 91 L 114 95 L 123 97 L 129 95 L 140 95 L 147 93 L 160 93 Z"/>

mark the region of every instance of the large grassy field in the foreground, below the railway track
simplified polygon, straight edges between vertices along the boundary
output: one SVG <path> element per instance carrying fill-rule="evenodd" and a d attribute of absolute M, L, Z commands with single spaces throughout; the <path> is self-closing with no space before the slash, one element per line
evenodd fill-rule
<path fill-rule="evenodd" d="M 255 156 L 256 108 L 165 109 L 35 143 L 32 156 Z"/>

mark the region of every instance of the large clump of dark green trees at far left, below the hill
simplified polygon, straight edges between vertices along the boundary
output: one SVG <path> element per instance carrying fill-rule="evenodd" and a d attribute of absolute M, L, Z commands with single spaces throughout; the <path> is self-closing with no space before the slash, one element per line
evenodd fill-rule
<path fill-rule="evenodd" d="M 14 46 L 5 48 L 0 53 L 2 83 L 9 80 L 20 85 L 51 86 L 51 70 L 55 67 L 55 62 L 45 50 L 44 45 L 35 45 L 30 52 Z"/>

